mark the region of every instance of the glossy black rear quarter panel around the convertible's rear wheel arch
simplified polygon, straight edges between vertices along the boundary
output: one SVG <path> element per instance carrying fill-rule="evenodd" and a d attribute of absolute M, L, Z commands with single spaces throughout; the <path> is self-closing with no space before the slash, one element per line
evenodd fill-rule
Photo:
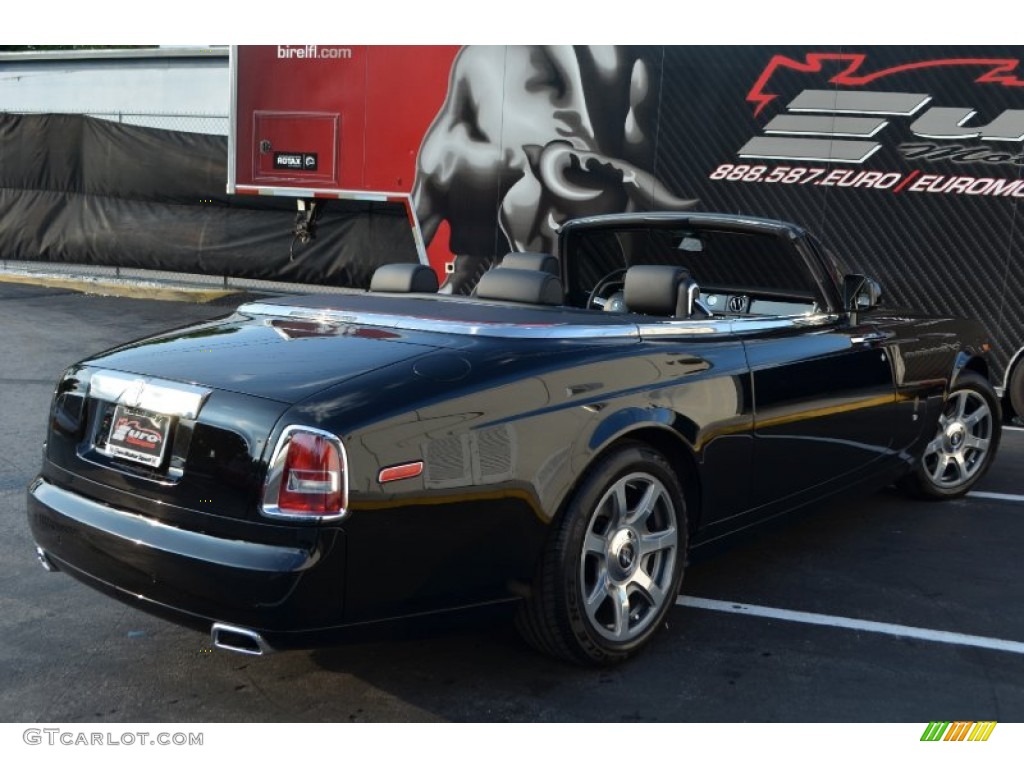
<path fill-rule="evenodd" d="M 513 597 L 581 476 L 641 430 L 699 473 L 692 515 L 745 503 L 738 341 L 476 339 L 335 387 L 281 425 L 293 421 L 341 434 L 348 453 L 348 622 Z M 414 461 L 421 476 L 378 482 Z"/>

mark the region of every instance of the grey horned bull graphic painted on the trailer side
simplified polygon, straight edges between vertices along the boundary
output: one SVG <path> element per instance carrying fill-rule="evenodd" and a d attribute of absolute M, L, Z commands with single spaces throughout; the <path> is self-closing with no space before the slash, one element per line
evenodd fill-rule
<path fill-rule="evenodd" d="M 558 226 L 575 216 L 696 204 L 652 170 L 653 71 L 620 46 L 460 51 L 413 187 L 424 240 L 442 221 L 451 228 L 457 283 L 496 253 L 554 252 Z"/>

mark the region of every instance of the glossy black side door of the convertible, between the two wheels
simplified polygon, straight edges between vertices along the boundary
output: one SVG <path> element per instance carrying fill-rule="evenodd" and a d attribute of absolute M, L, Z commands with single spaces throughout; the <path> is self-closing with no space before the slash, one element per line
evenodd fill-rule
<path fill-rule="evenodd" d="M 884 333 L 835 315 L 734 328 L 754 392 L 754 508 L 810 500 L 892 458 L 896 391 Z"/>

